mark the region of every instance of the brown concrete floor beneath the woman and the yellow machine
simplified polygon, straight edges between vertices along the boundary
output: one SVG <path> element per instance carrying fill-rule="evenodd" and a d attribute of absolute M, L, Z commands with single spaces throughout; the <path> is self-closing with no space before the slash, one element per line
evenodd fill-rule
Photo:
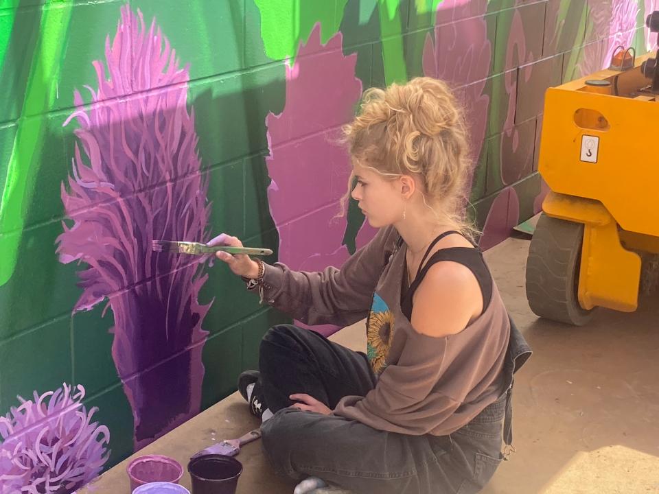
<path fill-rule="evenodd" d="M 638 311 L 599 310 L 587 327 L 539 320 L 524 293 L 529 242 L 507 239 L 485 252 L 505 303 L 533 348 L 516 377 L 513 444 L 485 494 L 659 493 L 659 304 Z M 333 339 L 365 346 L 363 322 Z M 236 393 L 181 425 L 135 456 L 186 458 L 213 441 L 240 436 L 256 425 Z M 238 457 L 238 493 L 292 493 L 276 478 L 257 443 Z M 129 458 L 130 460 L 130 458 Z M 126 462 L 82 493 L 130 493 Z M 181 484 L 189 487 L 187 473 Z"/>

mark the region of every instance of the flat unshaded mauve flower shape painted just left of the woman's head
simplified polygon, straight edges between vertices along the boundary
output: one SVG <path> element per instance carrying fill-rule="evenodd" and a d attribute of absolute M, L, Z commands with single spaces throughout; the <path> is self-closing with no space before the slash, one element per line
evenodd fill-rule
<path fill-rule="evenodd" d="M 336 34 L 323 48 L 316 24 L 293 66 L 286 68 L 284 110 L 266 117 L 270 145 L 266 165 L 272 179 L 268 200 L 279 230 L 279 261 L 295 270 L 340 267 L 349 257 L 342 244 L 347 221 L 336 215 L 351 165 L 336 140 L 340 126 L 354 117 L 362 84 L 355 77 L 357 56 L 343 56 L 342 38 Z M 370 226 L 362 227 L 357 247 L 374 233 Z M 327 335 L 338 328 L 314 329 Z"/>

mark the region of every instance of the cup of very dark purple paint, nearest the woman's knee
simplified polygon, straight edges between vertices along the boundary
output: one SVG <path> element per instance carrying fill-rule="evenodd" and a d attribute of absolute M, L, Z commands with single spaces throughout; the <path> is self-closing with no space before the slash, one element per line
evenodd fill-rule
<path fill-rule="evenodd" d="M 235 494 L 242 463 L 219 454 L 198 456 L 187 464 L 192 478 L 192 494 Z"/>

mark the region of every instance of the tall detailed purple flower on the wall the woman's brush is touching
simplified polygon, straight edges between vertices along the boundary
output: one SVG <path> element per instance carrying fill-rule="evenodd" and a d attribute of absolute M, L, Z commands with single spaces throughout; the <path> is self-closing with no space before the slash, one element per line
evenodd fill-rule
<path fill-rule="evenodd" d="M 203 264 L 154 253 L 151 244 L 207 242 L 209 204 L 187 110 L 188 67 L 178 67 L 155 21 L 146 30 L 141 12 L 128 5 L 105 56 L 108 74 L 94 62 L 92 103 L 85 106 L 76 91 L 69 118 L 78 122 L 78 143 L 62 202 L 72 224 L 63 224 L 58 253 L 63 263 L 81 265 L 73 311 L 103 301 L 113 311 L 112 356 L 137 449 L 200 410 L 209 307 L 198 294 L 207 275 Z M 135 96 L 122 97 L 128 92 Z"/>

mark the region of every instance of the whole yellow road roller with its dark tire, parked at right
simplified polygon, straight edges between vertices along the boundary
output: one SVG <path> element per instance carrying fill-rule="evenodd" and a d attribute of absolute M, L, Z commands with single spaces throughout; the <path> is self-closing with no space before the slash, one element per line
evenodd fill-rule
<path fill-rule="evenodd" d="M 659 31 L 659 12 L 647 25 Z M 546 91 L 538 170 L 550 191 L 526 271 L 538 316 L 584 325 L 596 307 L 638 306 L 639 254 L 659 254 L 657 60 L 621 47 L 610 69 Z"/>

